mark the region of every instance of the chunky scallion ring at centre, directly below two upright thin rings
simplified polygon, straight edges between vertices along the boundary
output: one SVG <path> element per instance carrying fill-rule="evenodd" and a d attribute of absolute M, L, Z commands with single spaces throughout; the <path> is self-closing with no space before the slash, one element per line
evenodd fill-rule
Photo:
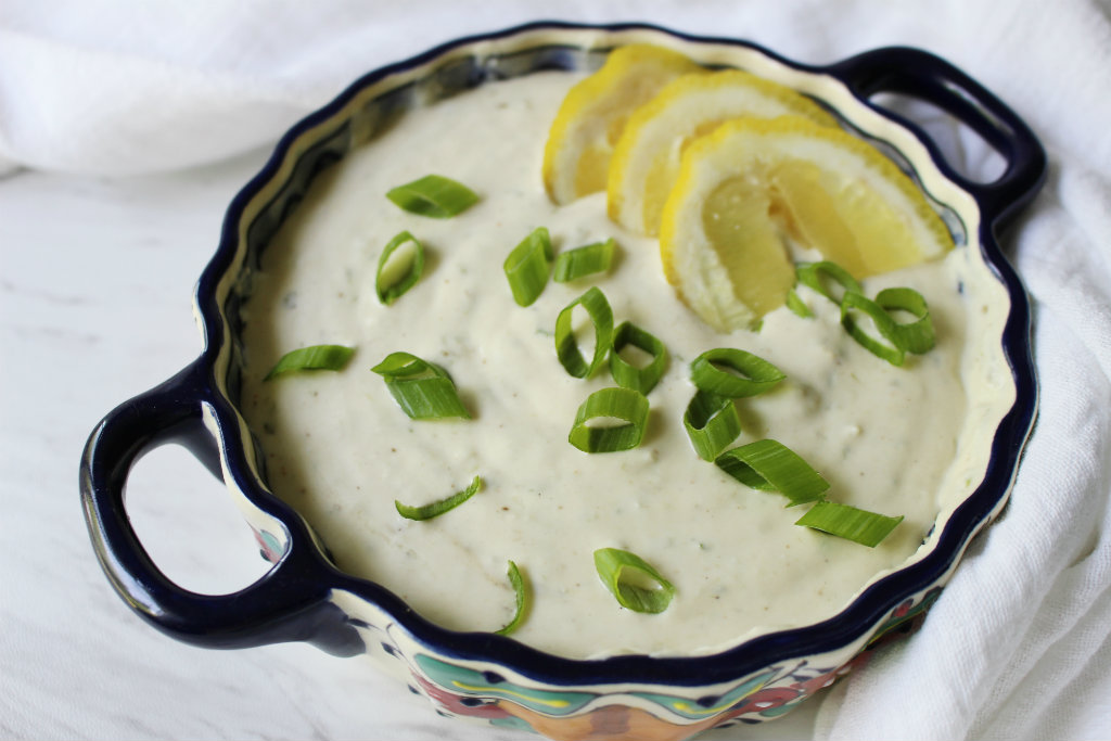
<path fill-rule="evenodd" d="M 587 453 L 632 450 L 644 439 L 648 411 L 648 398 L 640 391 L 622 388 L 594 391 L 579 407 L 568 442 Z M 613 424 L 614 421 L 623 423 Z"/>

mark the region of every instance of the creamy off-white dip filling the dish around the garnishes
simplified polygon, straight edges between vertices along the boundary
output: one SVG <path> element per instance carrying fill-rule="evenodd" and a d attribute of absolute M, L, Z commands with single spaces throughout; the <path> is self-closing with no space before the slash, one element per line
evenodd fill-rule
<path fill-rule="evenodd" d="M 942 489 L 969 407 L 961 372 L 971 312 L 958 288 L 968 260 L 958 250 L 865 283 L 869 294 L 910 286 L 929 302 L 937 348 L 903 368 L 858 346 L 837 307 L 813 294 L 814 319 L 780 309 L 758 333 L 720 334 L 668 286 L 655 240 L 605 218 L 604 194 L 567 207 L 546 196 L 543 142 L 577 79 L 533 74 L 412 111 L 317 179 L 264 250 L 243 308 L 241 407 L 268 483 L 342 569 L 448 628 L 508 622 L 513 560 L 532 592 L 514 638 L 568 657 L 708 652 L 831 617 L 914 553 L 951 495 Z M 433 172 L 481 201 L 439 220 L 384 198 Z M 614 237 L 620 257 L 609 274 L 550 282 L 521 308 L 502 261 L 538 226 L 557 250 Z M 402 230 L 426 244 L 429 261 L 387 307 L 373 288 L 378 258 Z M 648 397 L 645 439 L 628 452 L 587 454 L 567 441 L 579 404 L 614 385 L 608 371 L 572 378 L 556 358 L 556 317 L 590 286 L 605 293 L 615 323 L 653 333 L 671 358 Z M 283 353 L 320 343 L 357 350 L 342 372 L 262 382 Z M 682 424 L 694 393 L 689 364 L 718 347 L 753 352 L 787 374 L 739 402 L 737 444 L 779 440 L 831 483 L 832 501 L 903 515 L 883 543 L 870 549 L 797 527 L 805 507 L 785 508 L 783 497 L 748 489 L 694 453 Z M 399 350 L 442 366 L 473 419 L 410 420 L 370 370 Z M 484 488 L 442 517 L 416 522 L 394 510 L 396 499 L 431 502 L 474 475 Z M 592 560 L 605 547 L 637 553 L 674 584 L 665 612 L 614 601 Z"/>

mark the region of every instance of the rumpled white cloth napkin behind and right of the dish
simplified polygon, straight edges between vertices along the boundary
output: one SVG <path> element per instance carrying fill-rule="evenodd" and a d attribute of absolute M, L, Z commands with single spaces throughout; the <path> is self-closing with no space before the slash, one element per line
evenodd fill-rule
<path fill-rule="evenodd" d="M 561 6 L 160 2 L 0 6 L 0 172 L 188 168 L 272 146 L 360 73 L 561 13 L 643 20 L 828 63 L 910 44 L 1027 119 L 1051 172 L 1003 243 L 1034 304 L 1041 412 L 1001 519 L 922 629 L 823 701 L 822 739 L 1111 738 L 1111 6 L 1100 0 Z M 978 141 L 931 131 L 973 172 Z"/>

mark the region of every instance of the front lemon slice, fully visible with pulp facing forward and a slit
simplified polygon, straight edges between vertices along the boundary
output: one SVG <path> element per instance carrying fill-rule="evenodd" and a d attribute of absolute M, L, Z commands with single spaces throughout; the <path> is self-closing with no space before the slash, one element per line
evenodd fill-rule
<path fill-rule="evenodd" d="M 780 307 L 794 282 L 792 242 L 858 279 L 953 246 L 913 182 L 840 129 L 743 118 L 688 147 L 663 207 L 660 254 L 705 322 L 732 331 Z"/>

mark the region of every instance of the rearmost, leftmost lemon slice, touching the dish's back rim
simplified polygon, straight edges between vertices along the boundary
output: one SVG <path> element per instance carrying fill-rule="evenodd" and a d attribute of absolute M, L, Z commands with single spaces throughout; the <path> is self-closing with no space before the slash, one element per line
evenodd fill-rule
<path fill-rule="evenodd" d="M 610 154 L 629 114 L 674 78 L 699 69 L 679 52 L 650 44 L 610 52 L 601 69 L 568 91 L 552 121 L 543 163 L 551 199 L 570 203 L 605 190 Z"/>

